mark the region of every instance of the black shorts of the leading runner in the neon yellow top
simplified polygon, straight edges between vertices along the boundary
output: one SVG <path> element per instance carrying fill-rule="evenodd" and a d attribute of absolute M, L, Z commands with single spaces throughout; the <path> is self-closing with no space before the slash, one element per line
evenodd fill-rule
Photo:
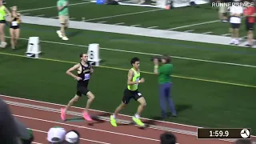
<path fill-rule="evenodd" d="M 138 90 L 131 91 L 126 88 L 123 92 L 122 102 L 128 104 L 131 98 L 134 98 L 134 100 L 137 101 L 138 98 L 142 98 L 142 94 Z"/>

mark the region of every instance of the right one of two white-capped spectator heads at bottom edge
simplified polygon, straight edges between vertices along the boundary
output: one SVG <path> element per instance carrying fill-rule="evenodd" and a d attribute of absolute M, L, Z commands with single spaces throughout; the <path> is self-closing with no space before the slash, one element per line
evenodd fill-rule
<path fill-rule="evenodd" d="M 78 144 L 80 134 L 77 130 L 70 130 L 66 132 L 64 144 Z"/>

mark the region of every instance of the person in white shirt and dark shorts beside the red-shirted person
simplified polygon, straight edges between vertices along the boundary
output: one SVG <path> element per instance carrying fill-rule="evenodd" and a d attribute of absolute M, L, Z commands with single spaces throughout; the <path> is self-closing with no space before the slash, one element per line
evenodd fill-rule
<path fill-rule="evenodd" d="M 235 0 L 235 2 L 239 2 L 239 0 Z M 242 6 L 231 6 L 230 7 L 230 33 L 231 33 L 231 42 L 230 44 L 239 44 L 239 29 L 241 26 L 241 18 L 243 13 Z"/>

